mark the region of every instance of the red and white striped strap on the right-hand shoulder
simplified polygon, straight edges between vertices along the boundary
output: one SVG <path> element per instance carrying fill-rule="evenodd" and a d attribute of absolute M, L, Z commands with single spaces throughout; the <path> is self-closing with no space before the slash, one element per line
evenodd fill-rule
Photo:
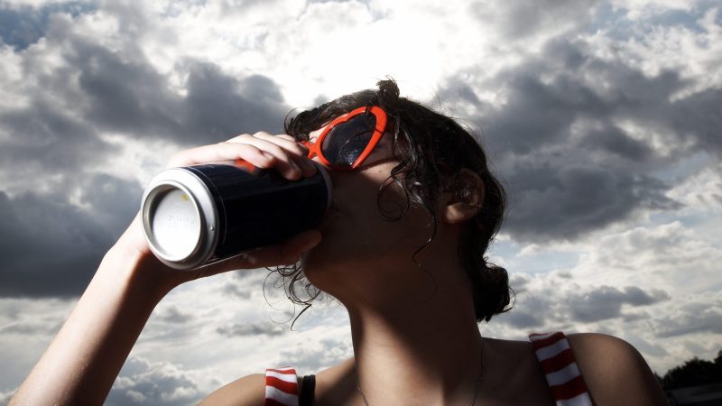
<path fill-rule="evenodd" d="M 564 333 L 531 334 L 529 340 L 557 406 L 592 406 L 587 385 Z"/>

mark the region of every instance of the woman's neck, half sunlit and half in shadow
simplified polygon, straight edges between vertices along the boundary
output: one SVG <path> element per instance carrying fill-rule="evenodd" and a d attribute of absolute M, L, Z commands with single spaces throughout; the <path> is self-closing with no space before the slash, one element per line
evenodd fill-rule
<path fill-rule="evenodd" d="M 369 404 L 469 404 L 482 349 L 469 294 L 440 287 L 407 311 L 347 308 Z"/>

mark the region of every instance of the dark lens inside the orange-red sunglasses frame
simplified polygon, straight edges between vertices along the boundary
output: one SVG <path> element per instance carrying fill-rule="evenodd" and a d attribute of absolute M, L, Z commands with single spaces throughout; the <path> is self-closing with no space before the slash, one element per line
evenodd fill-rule
<path fill-rule="evenodd" d="M 371 141 L 376 117 L 361 114 L 336 125 L 321 143 L 323 156 L 334 165 L 350 168 Z"/>

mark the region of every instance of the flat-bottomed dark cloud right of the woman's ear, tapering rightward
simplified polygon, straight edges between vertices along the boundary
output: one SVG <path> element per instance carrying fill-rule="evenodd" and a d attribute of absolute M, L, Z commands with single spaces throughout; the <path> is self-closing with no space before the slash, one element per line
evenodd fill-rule
<path fill-rule="evenodd" d="M 512 193 L 506 230 L 519 240 L 573 240 L 635 209 L 680 208 L 664 196 L 668 186 L 661 180 L 594 164 L 553 170 L 549 165 L 520 164 L 504 180 Z"/>

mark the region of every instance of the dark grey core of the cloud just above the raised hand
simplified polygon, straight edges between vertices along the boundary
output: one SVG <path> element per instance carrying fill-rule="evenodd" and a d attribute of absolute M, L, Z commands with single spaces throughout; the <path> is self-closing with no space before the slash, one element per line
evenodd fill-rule
<path fill-rule="evenodd" d="M 137 138 L 162 136 L 181 144 L 213 143 L 240 133 L 280 132 L 290 108 L 269 78 L 235 78 L 213 63 L 189 61 L 186 95 L 145 60 L 123 60 L 78 41 L 69 56 L 88 96 L 89 123 Z"/>

